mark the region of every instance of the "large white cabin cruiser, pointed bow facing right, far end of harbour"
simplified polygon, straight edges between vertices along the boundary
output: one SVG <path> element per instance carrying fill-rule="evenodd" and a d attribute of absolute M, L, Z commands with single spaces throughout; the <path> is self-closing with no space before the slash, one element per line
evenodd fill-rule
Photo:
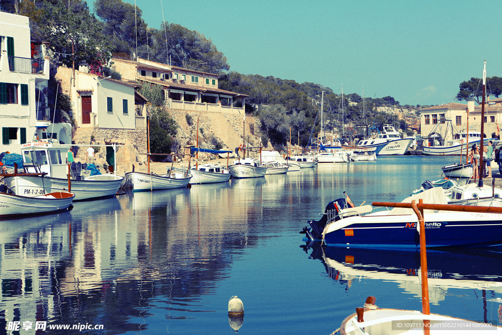
<path fill-rule="evenodd" d="M 384 125 L 382 133 L 377 138 L 360 140 L 356 146 L 374 147 L 378 156 L 405 155 L 414 140 L 413 138 L 402 139 L 392 125 Z"/>

